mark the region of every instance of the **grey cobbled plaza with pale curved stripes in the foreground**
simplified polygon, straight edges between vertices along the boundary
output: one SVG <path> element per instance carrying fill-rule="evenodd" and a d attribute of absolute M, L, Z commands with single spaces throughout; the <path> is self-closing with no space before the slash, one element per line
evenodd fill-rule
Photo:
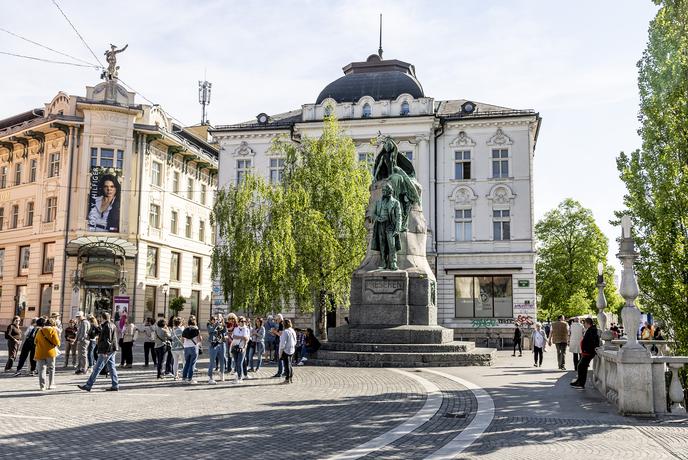
<path fill-rule="evenodd" d="M 134 365 L 117 393 L 105 377 L 80 391 L 86 378 L 61 368 L 45 392 L 3 374 L 2 458 L 688 458 L 686 418 L 618 416 L 595 390 L 570 388 L 551 352 L 543 368 L 508 352 L 492 367 L 302 366 L 291 385 L 270 365 L 210 386 L 206 366 L 184 385 Z"/>

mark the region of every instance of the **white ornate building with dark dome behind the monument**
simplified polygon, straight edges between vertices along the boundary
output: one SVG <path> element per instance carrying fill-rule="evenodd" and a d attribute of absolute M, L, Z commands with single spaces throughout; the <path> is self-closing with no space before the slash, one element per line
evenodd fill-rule
<path fill-rule="evenodd" d="M 331 113 L 371 162 L 378 133 L 392 136 L 423 187 L 427 254 L 438 282 L 438 321 L 457 338 L 511 337 L 535 318 L 533 157 L 541 119 L 466 99 L 426 96 L 413 65 L 378 55 L 344 67 L 315 103 L 218 126 L 219 186 L 247 173 L 279 180 L 276 136 L 317 137 Z M 337 323 L 341 324 L 341 318 Z"/>

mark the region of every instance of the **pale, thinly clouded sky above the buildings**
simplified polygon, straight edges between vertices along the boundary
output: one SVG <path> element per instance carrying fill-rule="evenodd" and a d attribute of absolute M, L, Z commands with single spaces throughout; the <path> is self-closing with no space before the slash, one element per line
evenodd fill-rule
<path fill-rule="evenodd" d="M 197 85 L 212 83 L 211 124 L 300 108 L 377 52 L 415 65 L 426 96 L 534 109 L 535 216 L 571 197 L 593 211 L 617 267 L 624 184 L 616 157 L 640 147 L 637 61 L 657 6 L 649 0 L 210 1 L 55 0 L 95 57 L 110 43 L 120 79 L 181 123 L 201 119 Z M 0 28 L 95 63 L 52 0 L 0 0 Z M 0 52 L 69 58 L 0 31 Z M 0 119 L 58 91 L 84 95 L 100 71 L 0 54 Z"/>

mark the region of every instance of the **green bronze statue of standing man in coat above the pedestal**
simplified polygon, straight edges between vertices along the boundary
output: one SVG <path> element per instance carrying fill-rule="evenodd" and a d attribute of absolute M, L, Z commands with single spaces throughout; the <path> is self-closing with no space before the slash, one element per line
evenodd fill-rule
<path fill-rule="evenodd" d="M 382 188 L 382 198 L 375 203 L 371 249 L 380 251 L 380 268 L 398 270 L 397 251 L 401 250 L 401 205 L 392 196 L 392 192 L 392 186 L 386 183 Z"/>

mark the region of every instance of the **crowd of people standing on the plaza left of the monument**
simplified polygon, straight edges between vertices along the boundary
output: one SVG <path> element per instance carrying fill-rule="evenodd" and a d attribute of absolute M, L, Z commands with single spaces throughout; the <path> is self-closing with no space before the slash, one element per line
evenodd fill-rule
<path fill-rule="evenodd" d="M 78 312 L 76 317 L 62 328 L 57 313 L 50 318 L 37 318 L 25 332 L 21 318 L 15 317 L 7 327 L 8 361 L 5 371 L 10 371 L 17 358 L 15 376 L 21 375 L 27 359 L 31 362 L 30 374 L 39 374 L 42 390 L 55 387 L 55 365 L 60 354 L 64 355 L 64 367 L 75 367 L 76 374 L 89 374 L 88 381 L 79 388 L 90 391 L 101 373 L 110 376 L 109 391 L 119 390 L 115 356 L 121 351 L 120 368 L 133 365 L 133 347 L 143 336 L 145 366 L 152 360 L 157 378 L 173 377 L 185 383 L 197 383 L 197 361 L 207 340 L 209 355 L 208 384 L 225 381 L 228 374 L 236 373 L 235 382 L 250 379 L 250 373 L 260 370 L 263 357 L 277 361 L 277 373 L 283 383 L 292 383 L 294 365 L 302 365 L 308 356 L 320 347 L 313 330 L 295 330 L 289 319 L 281 314 L 252 321 L 230 313 L 224 318 L 214 315 L 208 321 L 205 333 L 194 316 L 184 321 L 172 317 L 157 322 L 147 318 L 142 327 L 129 320 L 113 322 L 103 313 L 99 323 L 93 315 Z M 62 337 L 62 340 L 60 338 Z M 64 344 L 64 352 L 60 347 Z M 267 348 L 266 348 L 267 345 Z M 36 370 L 36 367 L 38 369 Z"/>

